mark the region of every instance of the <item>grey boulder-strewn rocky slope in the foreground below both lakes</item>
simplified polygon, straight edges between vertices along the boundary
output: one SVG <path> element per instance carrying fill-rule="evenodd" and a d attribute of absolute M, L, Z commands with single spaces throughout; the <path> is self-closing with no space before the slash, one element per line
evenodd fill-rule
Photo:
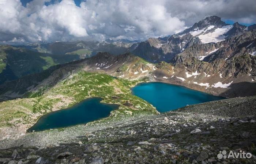
<path fill-rule="evenodd" d="M 219 111 L 219 112 L 218 112 Z M 221 113 L 221 114 L 218 114 Z M 256 163 L 256 96 L 0 141 L 0 163 Z M 218 159 L 219 151 L 252 153 Z"/>

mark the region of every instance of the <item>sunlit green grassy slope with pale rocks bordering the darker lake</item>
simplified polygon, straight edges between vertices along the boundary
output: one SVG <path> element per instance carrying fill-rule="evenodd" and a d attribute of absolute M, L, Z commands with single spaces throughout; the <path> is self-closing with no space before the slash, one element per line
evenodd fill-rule
<path fill-rule="evenodd" d="M 115 118 L 157 113 L 151 104 L 131 94 L 130 88 L 139 82 L 81 71 L 52 88 L 44 88 L 47 91 L 42 95 L 29 93 L 27 98 L 1 102 L 0 127 L 15 126 L 17 123 L 34 124 L 43 114 L 68 108 L 90 97 L 102 97 L 102 102 L 120 105 L 111 114 Z M 126 106 L 125 102 L 132 106 Z"/>

